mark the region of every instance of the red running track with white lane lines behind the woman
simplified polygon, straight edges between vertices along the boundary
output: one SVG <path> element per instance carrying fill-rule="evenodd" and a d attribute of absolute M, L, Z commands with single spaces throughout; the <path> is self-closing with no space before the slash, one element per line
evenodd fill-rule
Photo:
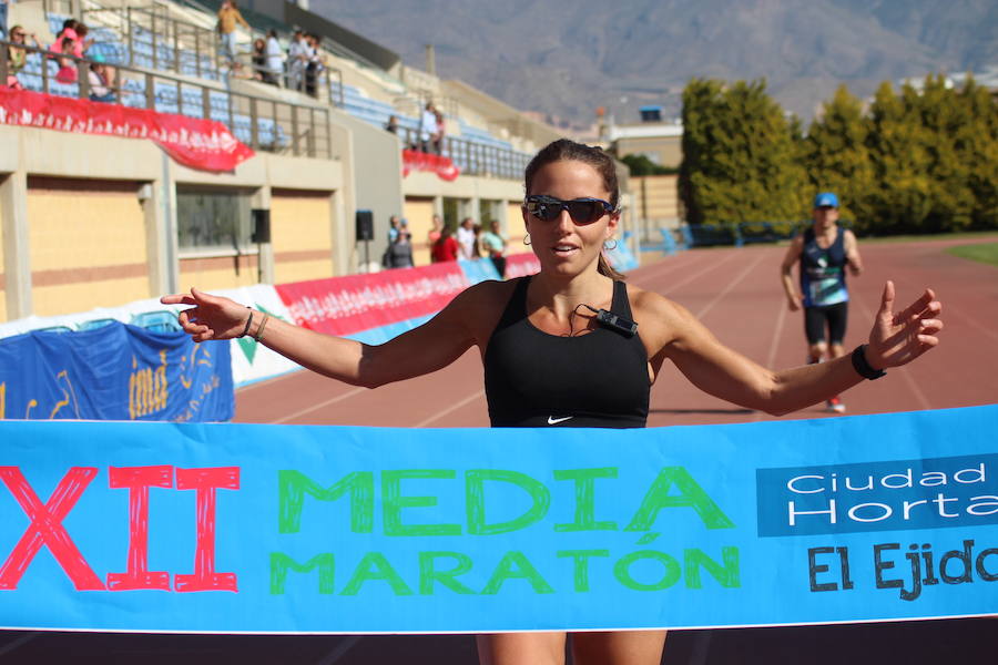
<path fill-rule="evenodd" d="M 869 331 L 887 279 L 907 304 L 926 286 L 944 303 L 943 344 L 914 365 L 893 369 L 844 396 L 848 413 L 882 413 L 998 403 L 998 269 L 957 258 L 945 248 L 968 241 L 870 243 L 860 246 L 866 272 L 849 280 L 846 347 Z M 976 241 L 981 242 L 981 241 Z M 630 275 L 630 280 L 685 306 L 724 344 L 767 367 L 805 361 L 803 315 L 786 307 L 780 284 L 784 247 L 684 252 Z M 784 418 L 823 418 L 823 406 Z M 649 427 L 772 420 L 694 388 L 666 364 L 652 389 Z M 488 427 L 477 349 L 426 377 L 354 388 L 295 372 L 236 395 L 237 422 L 377 427 Z"/>

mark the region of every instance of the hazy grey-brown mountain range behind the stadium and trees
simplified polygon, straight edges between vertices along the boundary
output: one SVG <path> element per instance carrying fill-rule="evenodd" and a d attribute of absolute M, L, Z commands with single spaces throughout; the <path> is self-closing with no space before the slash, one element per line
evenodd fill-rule
<path fill-rule="evenodd" d="M 765 78 L 805 121 L 839 83 L 998 64 L 995 0 L 312 0 L 312 11 L 554 123 L 679 116 L 691 78 Z"/>

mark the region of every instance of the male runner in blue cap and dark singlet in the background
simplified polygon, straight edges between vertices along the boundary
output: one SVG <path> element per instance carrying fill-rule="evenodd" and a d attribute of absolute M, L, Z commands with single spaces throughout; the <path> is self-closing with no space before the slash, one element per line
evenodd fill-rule
<path fill-rule="evenodd" d="M 838 226 L 838 196 L 823 192 L 814 197 L 812 225 L 791 242 L 783 257 L 781 275 L 791 311 L 804 307 L 804 334 L 807 336 L 808 362 L 822 362 L 845 355 L 845 338 L 849 314 L 849 291 L 846 268 L 858 277 L 863 260 L 852 231 Z M 798 291 L 791 272 L 800 263 Z M 827 341 L 825 330 L 827 329 Z M 825 402 L 835 413 L 845 412 L 845 403 L 837 395 Z"/>

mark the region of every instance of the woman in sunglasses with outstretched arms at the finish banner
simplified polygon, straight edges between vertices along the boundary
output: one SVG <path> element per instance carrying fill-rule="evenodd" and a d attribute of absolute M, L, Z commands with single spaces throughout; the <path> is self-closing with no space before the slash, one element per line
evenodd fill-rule
<path fill-rule="evenodd" d="M 436 371 L 477 346 L 492 427 L 644 427 L 649 390 L 665 360 L 711 395 L 782 415 L 938 344 L 941 305 L 933 291 L 895 313 L 888 282 L 869 341 L 851 358 L 765 369 L 723 346 L 681 305 L 625 284 L 609 266 L 603 245 L 618 231 L 620 191 L 603 151 L 556 141 L 533 157 L 525 180 L 523 222 L 540 272 L 477 284 L 383 345 L 273 320 L 194 288 L 162 301 L 193 306 L 179 318 L 195 341 L 252 336 L 314 371 L 370 388 Z M 482 635 L 479 657 L 486 665 L 562 664 L 567 638 Z M 578 633 L 572 651 L 579 665 L 658 665 L 664 642 L 665 631 Z"/>

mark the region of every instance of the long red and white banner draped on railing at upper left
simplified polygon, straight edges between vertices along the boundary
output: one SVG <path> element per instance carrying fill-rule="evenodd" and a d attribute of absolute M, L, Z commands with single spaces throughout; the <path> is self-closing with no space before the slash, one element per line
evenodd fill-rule
<path fill-rule="evenodd" d="M 232 171 L 254 155 L 221 122 L 0 88 L 0 124 L 149 139 L 184 166 Z"/>

